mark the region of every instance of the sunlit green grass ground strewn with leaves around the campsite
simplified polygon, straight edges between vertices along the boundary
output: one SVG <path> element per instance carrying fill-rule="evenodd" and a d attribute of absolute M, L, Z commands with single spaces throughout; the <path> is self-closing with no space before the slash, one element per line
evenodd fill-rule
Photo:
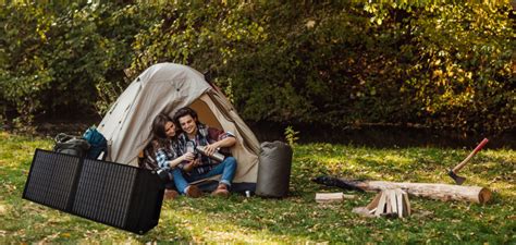
<path fill-rule="evenodd" d="M 446 168 L 470 149 L 372 149 L 309 144 L 294 149 L 291 195 L 284 199 L 179 198 L 163 205 L 158 226 L 135 235 L 21 198 L 35 148 L 50 139 L 0 132 L 0 244 L 34 242 L 236 242 L 236 243 L 516 243 L 516 151 L 482 150 L 460 173 L 466 184 L 489 187 L 491 203 L 477 205 L 410 198 L 403 220 L 369 219 L 352 212 L 373 194 L 319 205 L 316 192 L 341 192 L 309 180 L 320 174 L 369 180 L 449 183 Z"/>

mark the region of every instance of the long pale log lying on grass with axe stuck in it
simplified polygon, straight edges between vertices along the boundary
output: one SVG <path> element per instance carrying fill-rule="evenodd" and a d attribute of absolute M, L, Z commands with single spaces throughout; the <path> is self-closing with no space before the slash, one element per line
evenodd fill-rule
<path fill-rule="evenodd" d="M 346 188 L 359 188 L 366 192 L 380 192 L 382 189 L 402 188 L 409 195 L 438 200 L 465 200 L 477 204 L 486 204 L 491 199 L 491 191 L 479 186 L 386 181 L 356 181 L 331 176 L 318 177 L 315 181 L 319 184 L 330 185 L 331 183 L 331 186 L 346 186 Z"/>

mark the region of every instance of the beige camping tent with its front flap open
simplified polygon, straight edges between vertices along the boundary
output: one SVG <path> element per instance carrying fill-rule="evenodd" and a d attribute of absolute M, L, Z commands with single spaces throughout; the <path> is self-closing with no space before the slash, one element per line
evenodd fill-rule
<path fill-rule="evenodd" d="M 235 134 L 237 144 L 231 150 L 238 162 L 234 183 L 256 183 L 258 139 L 216 86 L 196 70 L 181 64 L 148 68 L 110 108 L 98 126 L 108 139 L 107 160 L 137 166 L 156 115 L 173 115 L 187 106 L 197 111 L 200 122 Z"/>

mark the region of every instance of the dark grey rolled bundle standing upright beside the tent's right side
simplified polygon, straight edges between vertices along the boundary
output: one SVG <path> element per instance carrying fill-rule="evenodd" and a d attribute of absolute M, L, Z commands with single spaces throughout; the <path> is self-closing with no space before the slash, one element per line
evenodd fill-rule
<path fill-rule="evenodd" d="M 256 195 L 284 197 L 288 193 L 292 167 L 292 147 L 283 142 L 265 142 L 260 145 L 260 164 Z"/>

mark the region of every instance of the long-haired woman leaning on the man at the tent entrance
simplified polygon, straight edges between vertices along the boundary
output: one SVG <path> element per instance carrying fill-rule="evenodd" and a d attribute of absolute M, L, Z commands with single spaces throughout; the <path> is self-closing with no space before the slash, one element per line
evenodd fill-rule
<path fill-rule="evenodd" d="M 169 115 L 161 113 L 156 117 L 152 122 L 152 135 L 155 138 L 152 144 L 155 144 L 156 149 L 156 161 L 161 169 L 169 172 L 169 175 L 172 175 L 172 170 L 177 168 L 177 164 L 188 162 L 187 166 L 191 166 L 191 162 L 195 160 L 193 152 L 186 152 L 179 156 L 180 150 L 177 149 L 176 126 Z M 184 189 L 179 191 L 193 198 L 201 195 L 200 189 L 195 185 L 188 185 Z M 169 196 L 173 195 L 170 191 L 168 192 Z"/>

